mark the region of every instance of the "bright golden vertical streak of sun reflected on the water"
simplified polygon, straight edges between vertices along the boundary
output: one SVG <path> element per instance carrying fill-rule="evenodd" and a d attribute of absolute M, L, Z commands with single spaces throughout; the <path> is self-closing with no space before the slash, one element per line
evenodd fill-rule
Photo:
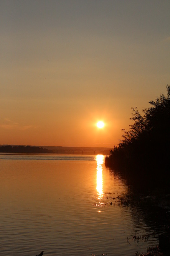
<path fill-rule="evenodd" d="M 103 155 L 97 155 L 96 156 L 97 161 L 97 192 L 98 192 L 98 199 L 103 198 L 103 179 L 102 179 L 102 164 L 104 162 L 104 156 Z"/>

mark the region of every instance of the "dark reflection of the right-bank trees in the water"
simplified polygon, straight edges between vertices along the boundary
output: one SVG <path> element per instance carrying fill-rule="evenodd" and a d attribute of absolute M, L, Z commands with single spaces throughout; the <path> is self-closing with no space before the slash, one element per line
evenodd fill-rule
<path fill-rule="evenodd" d="M 108 170 L 110 175 L 119 178 L 129 188 L 126 194 L 115 198 L 116 206 L 128 207 L 137 226 L 143 221 L 148 227 L 147 235 L 157 238 L 160 234 L 170 236 L 169 186 L 165 186 L 158 179 L 151 181 L 151 177 L 143 176 L 143 179 L 140 179 L 138 175 L 132 177 L 127 173 L 120 174 L 112 168 L 108 168 Z M 161 207 L 162 205 L 164 207 Z M 146 239 L 148 238 L 146 237 Z"/>

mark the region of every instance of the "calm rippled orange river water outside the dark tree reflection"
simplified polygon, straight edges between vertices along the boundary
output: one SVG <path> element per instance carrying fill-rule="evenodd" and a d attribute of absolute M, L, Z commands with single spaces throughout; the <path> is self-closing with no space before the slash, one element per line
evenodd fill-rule
<path fill-rule="evenodd" d="M 140 210 L 119 205 L 129 187 L 103 160 L 0 155 L 0 255 L 133 256 L 158 245 Z"/>

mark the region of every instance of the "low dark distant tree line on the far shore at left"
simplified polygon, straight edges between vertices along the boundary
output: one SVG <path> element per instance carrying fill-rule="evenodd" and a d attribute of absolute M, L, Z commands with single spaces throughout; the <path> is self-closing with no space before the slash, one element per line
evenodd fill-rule
<path fill-rule="evenodd" d="M 1 153 L 54 153 L 53 150 L 35 146 L 0 146 Z"/>

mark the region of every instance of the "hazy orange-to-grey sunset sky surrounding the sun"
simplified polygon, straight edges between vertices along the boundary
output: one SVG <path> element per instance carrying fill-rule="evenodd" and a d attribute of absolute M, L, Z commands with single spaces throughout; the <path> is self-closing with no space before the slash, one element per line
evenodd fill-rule
<path fill-rule="evenodd" d="M 132 107 L 166 95 L 169 11 L 169 0 L 1 0 L 0 144 L 117 145 Z"/>

